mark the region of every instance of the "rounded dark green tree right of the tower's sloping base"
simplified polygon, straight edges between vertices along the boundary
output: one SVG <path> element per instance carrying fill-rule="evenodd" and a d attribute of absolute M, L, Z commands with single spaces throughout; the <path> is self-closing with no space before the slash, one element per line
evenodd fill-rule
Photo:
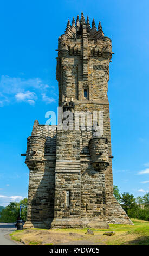
<path fill-rule="evenodd" d="M 135 206 L 137 206 L 137 204 L 135 202 L 135 198 L 134 198 L 133 194 L 129 194 L 128 192 L 122 193 L 121 206 L 125 210 L 126 214 L 128 214 L 129 209 L 135 208 Z"/>

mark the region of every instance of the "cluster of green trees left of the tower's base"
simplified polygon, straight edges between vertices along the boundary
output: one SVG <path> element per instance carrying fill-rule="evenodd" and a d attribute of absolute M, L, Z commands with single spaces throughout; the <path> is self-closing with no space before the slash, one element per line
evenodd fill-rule
<path fill-rule="evenodd" d="M 27 216 L 27 198 L 24 198 L 21 205 L 21 218 L 25 221 Z M 16 222 L 19 215 L 21 202 L 10 202 L 1 212 L 0 222 Z"/>

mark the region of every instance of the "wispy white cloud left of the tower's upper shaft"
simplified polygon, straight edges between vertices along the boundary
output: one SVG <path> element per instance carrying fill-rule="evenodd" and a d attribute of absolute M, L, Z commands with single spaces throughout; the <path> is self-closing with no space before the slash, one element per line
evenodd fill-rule
<path fill-rule="evenodd" d="M 2 75 L 0 77 L 0 107 L 8 103 L 26 102 L 34 105 L 35 101 L 42 96 L 42 101 L 46 104 L 55 102 L 57 95 L 55 87 L 44 83 L 40 78 L 25 79 L 20 77 L 9 77 Z M 51 97 L 46 96 L 47 90 Z M 53 96 L 53 97 L 52 97 Z M 56 96 L 56 99 L 55 99 Z"/>

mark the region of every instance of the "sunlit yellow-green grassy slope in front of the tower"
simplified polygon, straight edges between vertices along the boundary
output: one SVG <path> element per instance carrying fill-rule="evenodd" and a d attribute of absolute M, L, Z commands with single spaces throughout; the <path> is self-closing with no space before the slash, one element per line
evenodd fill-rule
<path fill-rule="evenodd" d="M 20 241 L 21 239 L 25 243 L 30 245 L 41 244 L 53 244 L 62 243 L 63 241 L 77 241 L 77 240 L 89 240 L 94 243 L 103 242 L 106 245 L 149 245 L 149 222 L 142 220 L 132 220 L 132 225 L 109 225 L 108 231 L 115 231 L 114 236 L 103 236 L 104 231 L 107 229 L 92 229 L 94 236 L 85 235 L 86 229 L 59 229 L 59 230 L 47 230 L 47 229 L 29 229 L 22 231 L 15 231 L 11 234 L 11 238 Z M 74 236 L 70 236 L 69 233 L 73 233 Z M 48 240 L 48 237 L 53 237 L 53 240 Z M 59 236 L 59 242 L 56 237 Z"/>

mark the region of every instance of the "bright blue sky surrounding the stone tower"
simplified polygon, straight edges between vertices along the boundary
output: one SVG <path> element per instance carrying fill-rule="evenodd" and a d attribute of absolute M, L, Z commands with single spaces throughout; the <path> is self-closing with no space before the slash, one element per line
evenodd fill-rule
<path fill-rule="evenodd" d="M 57 108 L 57 39 L 68 18 L 94 17 L 115 53 L 110 64 L 113 182 L 135 197 L 149 191 L 149 35 L 146 0 L 0 3 L 0 205 L 27 197 L 29 170 L 24 164 L 27 137 L 35 119 L 47 120 Z"/>

